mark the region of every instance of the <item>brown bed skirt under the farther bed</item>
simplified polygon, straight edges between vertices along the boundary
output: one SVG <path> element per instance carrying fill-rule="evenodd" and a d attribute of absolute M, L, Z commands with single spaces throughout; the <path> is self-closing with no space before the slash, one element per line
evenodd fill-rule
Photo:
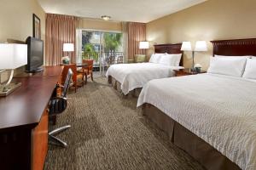
<path fill-rule="evenodd" d="M 108 76 L 108 83 L 112 84 L 114 89 L 116 89 L 119 93 L 123 94 L 123 92 L 121 90 L 121 83 L 120 82 L 115 80 L 113 77 Z M 125 96 L 132 96 L 132 97 L 138 98 L 142 89 L 143 88 L 135 88 L 134 90 L 131 90 L 131 92 L 129 92 L 129 94 L 126 94 Z"/>

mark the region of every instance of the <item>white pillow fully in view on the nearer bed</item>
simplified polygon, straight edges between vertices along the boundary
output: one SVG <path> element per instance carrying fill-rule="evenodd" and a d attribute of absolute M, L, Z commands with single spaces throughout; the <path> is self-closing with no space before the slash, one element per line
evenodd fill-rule
<path fill-rule="evenodd" d="M 246 57 L 212 57 L 208 73 L 241 77 L 247 58 Z"/>

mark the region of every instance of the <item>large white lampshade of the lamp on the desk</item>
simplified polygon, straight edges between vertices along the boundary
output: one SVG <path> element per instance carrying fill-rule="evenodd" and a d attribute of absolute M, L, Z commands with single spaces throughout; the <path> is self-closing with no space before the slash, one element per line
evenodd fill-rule
<path fill-rule="evenodd" d="M 27 45 L 0 44 L 0 70 L 12 70 L 27 64 Z"/>

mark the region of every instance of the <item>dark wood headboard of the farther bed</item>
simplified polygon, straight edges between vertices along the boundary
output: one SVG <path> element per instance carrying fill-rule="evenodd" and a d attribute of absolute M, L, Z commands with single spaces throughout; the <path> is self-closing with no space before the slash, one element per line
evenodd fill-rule
<path fill-rule="evenodd" d="M 180 50 L 181 46 L 182 43 L 154 45 L 154 53 L 182 54 L 179 65 L 183 66 L 183 51 Z"/>

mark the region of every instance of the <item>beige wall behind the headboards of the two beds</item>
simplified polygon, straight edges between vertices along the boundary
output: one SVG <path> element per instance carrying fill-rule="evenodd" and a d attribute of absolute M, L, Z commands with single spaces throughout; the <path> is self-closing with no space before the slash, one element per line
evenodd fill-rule
<path fill-rule="evenodd" d="M 208 42 L 207 53 L 195 54 L 195 63 L 207 69 L 212 54 L 211 40 L 256 37 L 255 0 L 208 0 L 147 24 L 147 40 L 177 43 L 197 40 Z M 148 55 L 154 52 L 148 50 Z M 190 67 L 191 53 L 186 52 L 184 66 Z"/>

